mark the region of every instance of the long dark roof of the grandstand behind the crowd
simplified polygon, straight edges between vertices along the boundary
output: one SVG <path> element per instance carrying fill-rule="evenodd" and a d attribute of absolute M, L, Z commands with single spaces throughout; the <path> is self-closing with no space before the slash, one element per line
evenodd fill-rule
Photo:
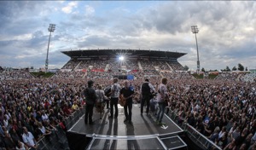
<path fill-rule="evenodd" d="M 143 49 L 86 49 L 86 50 L 68 50 L 61 51 L 71 58 L 114 58 L 117 55 L 125 55 L 129 58 L 149 58 L 149 59 L 165 59 L 177 60 L 179 57 L 187 53 L 178 53 L 161 50 L 143 50 Z"/>

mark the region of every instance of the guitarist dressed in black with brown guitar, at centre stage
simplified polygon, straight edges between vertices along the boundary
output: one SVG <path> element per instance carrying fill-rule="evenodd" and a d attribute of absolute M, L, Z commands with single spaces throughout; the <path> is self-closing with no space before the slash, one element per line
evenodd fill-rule
<path fill-rule="evenodd" d="M 131 108 L 132 108 L 132 95 L 134 95 L 134 90 L 129 87 L 128 81 L 125 80 L 124 88 L 120 90 L 120 102 L 125 101 L 124 111 L 125 111 L 125 120 L 124 123 L 128 121 L 129 124 L 133 124 L 131 122 Z M 128 108 L 128 110 L 127 110 Z"/>

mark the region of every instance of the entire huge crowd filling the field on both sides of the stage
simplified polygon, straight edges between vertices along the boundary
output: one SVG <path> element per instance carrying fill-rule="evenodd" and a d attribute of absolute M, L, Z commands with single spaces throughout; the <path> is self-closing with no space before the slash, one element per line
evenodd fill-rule
<path fill-rule="evenodd" d="M 155 88 L 160 78 L 168 78 L 169 108 L 177 114 L 179 124 L 192 125 L 223 149 L 256 149 L 255 82 L 242 82 L 234 79 L 237 75 L 229 74 L 215 80 L 195 79 L 187 72 L 159 72 L 156 75 L 158 72 L 152 68 L 157 64 L 164 65 L 141 63 L 137 68 L 147 69 L 123 73 L 135 75 L 130 84 L 137 93 L 144 78 L 149 78 Z M 105 68 L 105 65 L 97 66 Z M 77 67 L 71 64 L 65 69 L 70 69 L 69 66 Z M 57 125 L 67 130 L 64 120 L 84 105 L 87 81 L 92 79 L 95 86 L 107 87 L 112 84 L 115 73 L 71 71 L 58 72 L 52 78 L 33 78 L 27 71 L 0 72 L 0 147 L 36 148 L 36 142 L 43 136 L 49 138 Z M 120 85 L 123 86 L 122 81 Z M 139 95 L 134 102 L 140 102 Z M 34 141 L 26 139 L 28 133 Z"/>

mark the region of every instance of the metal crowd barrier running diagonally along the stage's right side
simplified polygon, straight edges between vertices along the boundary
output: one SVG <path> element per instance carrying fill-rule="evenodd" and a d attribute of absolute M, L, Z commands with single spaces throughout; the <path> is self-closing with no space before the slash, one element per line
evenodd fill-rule
<path fill-rule="evenodd" d="M 179 116 L 172 111 L 170 111 L 167 115 L 187 133 L 189 139 L 195 143 L 200 143 L 199 145 L 204 149 L 221 150 L 221 148 L 218 147 L 214 142 L 210 141 L 206 136 L 203 136 L 199 131 L 195 130 L 193 126 L 183 123 L 184 118 L 179 118 Z"/>

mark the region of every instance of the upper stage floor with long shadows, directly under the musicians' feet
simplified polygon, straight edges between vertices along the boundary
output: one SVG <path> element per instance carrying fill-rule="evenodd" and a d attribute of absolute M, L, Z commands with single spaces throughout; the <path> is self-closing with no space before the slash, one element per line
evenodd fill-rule
<path fill-rule="evenodd" d="M 155 123 L 154 113 L 140 113 L 140 106 L 134 104 L 132 107 L 132 122 L 131 124 L 124 123 L 125 115 L 123 107 L 119 106 L 118 118 L 108 118 L 109 110 L 105 109 L 105 113 L 94 113 L 93 120 L 95 124 L 84 124 L 84 115 L 79 118 L 79 121 L 69 130 L 87 136 L 149 136 L 149 135 L 173 135 L 183 130 L 175 124 L 171 118 L 164 115 L 163 121 L 165 126 L 160 126 Z"/>

